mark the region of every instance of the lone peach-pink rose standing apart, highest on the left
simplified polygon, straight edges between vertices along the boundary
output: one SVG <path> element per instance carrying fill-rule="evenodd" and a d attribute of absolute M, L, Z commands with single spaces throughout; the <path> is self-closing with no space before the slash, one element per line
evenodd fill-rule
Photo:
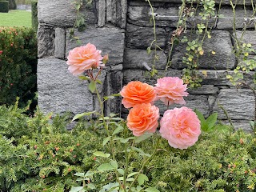
<path fill-rule="evenodd" d="M 82 74 L 85 70 L 91 70 L 104 66 L 102 64 L 102 51 L 96 50 L 96 46 L 88 43 L 86 46 L 79 46 L 70 50 L 66 64 L 73 75 Z"/>

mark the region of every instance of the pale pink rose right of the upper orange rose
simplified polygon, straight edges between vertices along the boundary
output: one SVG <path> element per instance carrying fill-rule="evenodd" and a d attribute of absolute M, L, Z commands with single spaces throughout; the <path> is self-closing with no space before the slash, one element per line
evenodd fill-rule
<path fill-rule="evenodd" d="M 158 83 L 155 84 L 154 90 L 157 94 L 157 99 L 169 106 L 170 104 L 186 104 L 184 96 L 187 96 L 186 85 L 180 78 L 158 78 Z"/>

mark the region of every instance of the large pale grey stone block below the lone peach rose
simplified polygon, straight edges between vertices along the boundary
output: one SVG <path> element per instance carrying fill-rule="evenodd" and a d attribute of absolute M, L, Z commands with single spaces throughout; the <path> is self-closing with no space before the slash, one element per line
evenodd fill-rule
<path fill-rule="evenodd" d="M 38 106 L 44 113 L 93 111 L 93 96 L 87 85 L 69 73 L 66 61 L 38 59 Z"/>

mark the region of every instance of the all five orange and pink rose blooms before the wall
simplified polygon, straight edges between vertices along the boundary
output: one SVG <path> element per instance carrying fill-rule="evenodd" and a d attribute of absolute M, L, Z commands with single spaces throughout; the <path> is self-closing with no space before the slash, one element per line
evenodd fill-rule
<path fill-rule="evenodd" d="M 101 50 L 97 50 L 93 44 L 80 46 L 70 50 L 68 70 L 71 74 L 78 75 L 87 72 L 94 79 L 91 70 L 102 69 L 108 60 L 108 55 L 102 57 Z M 96 76 L 97 78 L 97 76 Z M 143 82 L 129 82 L 120 92 L 122 104 L 130 112 L 127 117 L 127 126 L 133 131 L 134 136 L 140 136 L 146 132 L 154 133 L 158 128 L 160 118 L 159 109 L 154 102 L 161 100 L 166 106 L 172 104 L 186 104 L 186 85 L 180 78 L 158 78 L 155 86 Z M 198 141 L 201 134 L 200 121 L 193 110 L 183 106 L 166 110 L 160 121 L 160 134 L 166 138 L 174 148 L 186 149 Z"/>

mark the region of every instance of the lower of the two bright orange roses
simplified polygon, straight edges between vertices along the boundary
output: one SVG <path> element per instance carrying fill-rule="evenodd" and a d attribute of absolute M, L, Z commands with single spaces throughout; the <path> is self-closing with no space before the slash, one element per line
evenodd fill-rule
<path fill-rule="evenodd" d="M 127 126 L 134 136 L 145 132 L 154 133 L 158 127 L 159 109 L 150 103 L 135 105 L 127 117 Z"/>

